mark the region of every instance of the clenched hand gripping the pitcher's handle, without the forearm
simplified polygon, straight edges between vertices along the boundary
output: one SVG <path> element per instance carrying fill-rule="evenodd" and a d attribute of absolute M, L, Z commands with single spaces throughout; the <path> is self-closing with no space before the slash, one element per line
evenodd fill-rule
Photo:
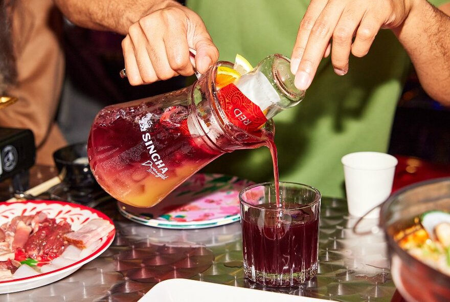
<path fill-rule="evenodd" d="M 122 41 L 127 78 L 131 85 L 148 84 L 177 75 L 192 75 L 189 47 L 197 51 L 195 66 L 204 73 L 219 53 L 201 18 L 175 5 L 140 18 Z"/>

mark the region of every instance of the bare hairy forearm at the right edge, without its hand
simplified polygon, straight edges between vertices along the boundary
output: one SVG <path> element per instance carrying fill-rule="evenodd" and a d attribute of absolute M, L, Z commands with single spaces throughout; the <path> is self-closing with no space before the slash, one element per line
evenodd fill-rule
<path fill-rule="evenodd" d="M 450 17 L 425 0 L 415 0 L 408 18 L 393 31 L 424 90 L 450 106 Z"/>

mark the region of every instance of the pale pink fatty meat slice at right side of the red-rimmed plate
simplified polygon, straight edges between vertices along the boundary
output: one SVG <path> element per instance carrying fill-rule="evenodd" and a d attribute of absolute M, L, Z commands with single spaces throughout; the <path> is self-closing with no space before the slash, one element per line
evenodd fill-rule
<path fill-rule="evenodd" d="M 64 235 L 64 239 L 79 248 L 87 248 L 92 243 L 106 236 L 114 225 L 104 219 L 88 221 L 79 230 Z"/>

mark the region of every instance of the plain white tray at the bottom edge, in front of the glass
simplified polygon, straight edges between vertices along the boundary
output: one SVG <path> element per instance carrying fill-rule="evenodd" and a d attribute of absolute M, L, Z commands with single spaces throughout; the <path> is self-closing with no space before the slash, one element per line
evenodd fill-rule
<path fill-rule="evenodd" d="M 220 285 L 190 279 L 169 279 L 156 284 L 138 302 L 319 302 L 323 299 Z M 330 300 L 327 300 L 330 301 Z M 335 301 L 334 301 L 335 302 Z"/>

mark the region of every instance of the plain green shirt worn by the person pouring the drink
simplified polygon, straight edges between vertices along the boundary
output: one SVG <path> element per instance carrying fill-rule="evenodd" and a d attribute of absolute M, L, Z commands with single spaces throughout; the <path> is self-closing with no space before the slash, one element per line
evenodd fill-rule
<path fill-rule="evenodd" d="M 435 5 L 448 0 L 432 1 Z M 254 66 L 269 54 L 290 57 L 309 0 L 188 0 L 220 52 L 241 54 Z M 369 54 L 350 58 L 347 75 L 322 60 L 300 104 L 275 120 L 281 181 L 312 185 L 323 196 L 344 196 L 341 157 L 358 151 L 387 152 L 394 113 L 410 60 L 390 30 L 381 30 Z M 206 168 L 256 182 L 273 181 L 269 150 L 238 150 Z"/>

